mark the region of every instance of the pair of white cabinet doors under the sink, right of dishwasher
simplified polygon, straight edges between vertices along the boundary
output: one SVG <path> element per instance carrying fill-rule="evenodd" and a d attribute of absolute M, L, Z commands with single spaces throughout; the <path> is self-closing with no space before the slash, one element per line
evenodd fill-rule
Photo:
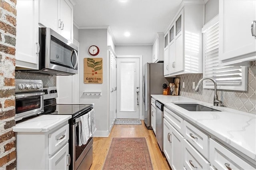
<path fill-rule="evenodd" d="M 180 134 L 166 119 L 164 119 L 164 154 L 172 170 L 183 168 L 183 140 Z"/>

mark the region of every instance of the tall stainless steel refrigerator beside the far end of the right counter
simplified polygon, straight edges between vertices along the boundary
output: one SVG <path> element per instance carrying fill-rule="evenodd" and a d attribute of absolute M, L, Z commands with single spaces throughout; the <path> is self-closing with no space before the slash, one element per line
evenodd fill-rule
<path fill-rule="evenodd" d="M 151 96 L 150 95 L 162 95 L 163 83 L 169 85 L 170 82 L 174 82 L 174 78 L 164 77 L 164 63 L 146 63 L 143 66 L 142 77 L 142 116 L 144 117 L 144 123 L 148 129 L 151 127 Z"/>

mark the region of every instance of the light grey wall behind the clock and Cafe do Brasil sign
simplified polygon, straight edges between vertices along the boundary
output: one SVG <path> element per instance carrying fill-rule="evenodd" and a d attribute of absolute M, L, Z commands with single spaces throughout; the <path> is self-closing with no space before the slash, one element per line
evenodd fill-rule
<path fill-rule="evenodd" d="M 108 71 L 107 71 L 107 29 L 79 30 L 79 102 L 94 103 L 96 132 L 94 136 L 108 136 Z M 91 45 L 97 45 L 100 53 L 92 57 L 88 53 Z M 84 58 L 103 58 L 103 83 L 84 84 Z M 100 97 L 87 97 L 83 91 L 102 91 Z"/>

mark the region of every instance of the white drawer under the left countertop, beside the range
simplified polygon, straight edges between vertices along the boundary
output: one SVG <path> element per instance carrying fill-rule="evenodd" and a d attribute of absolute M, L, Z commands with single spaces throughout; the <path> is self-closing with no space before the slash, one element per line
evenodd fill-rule
<path fill-rule="evenodd" d="M 68 142 L 69 125 L 65 125 L 49 134 L 49 155 Z"/>

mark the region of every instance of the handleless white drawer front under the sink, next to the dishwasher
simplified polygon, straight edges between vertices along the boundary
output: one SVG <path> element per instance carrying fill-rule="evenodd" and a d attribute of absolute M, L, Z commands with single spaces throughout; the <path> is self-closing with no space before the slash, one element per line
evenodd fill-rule
<path fill-rule="evenodd" d="M 182 134 L 183 119 L 164 107 L 164 118 Z"/>

